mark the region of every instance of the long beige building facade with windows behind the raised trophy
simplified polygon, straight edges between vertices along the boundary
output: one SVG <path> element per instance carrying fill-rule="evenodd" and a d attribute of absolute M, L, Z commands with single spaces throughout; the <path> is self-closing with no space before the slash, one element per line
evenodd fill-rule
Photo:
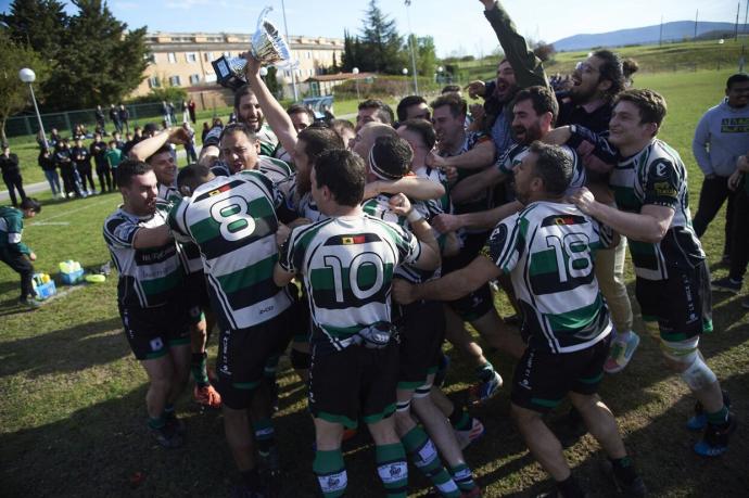
<path fill-rule="evenodd" d="M 307 85 L 301 81 L 332 67 L 333 59 L 337 64 L 341 64 L 343 39 L 305 36 L 290 38 L 292 58 L 299 63 L 293 71 L 296 72 L 300 92 L 307 91 Z M 250 47 L 250 35 L 154 33 L 147 35 L 147 43 L 151 52 L 149 66 L 134 95 L 143 95 L 152 88 L 166 86 L 183 87 L 192 94 L 217 87 L 211 61 L 221 55 L 239 56 Z M 277 73 L 279 82 L 284 85 L 285 97 L 293 95 L 291 72 L 289 68 L 279 68 Z"/>

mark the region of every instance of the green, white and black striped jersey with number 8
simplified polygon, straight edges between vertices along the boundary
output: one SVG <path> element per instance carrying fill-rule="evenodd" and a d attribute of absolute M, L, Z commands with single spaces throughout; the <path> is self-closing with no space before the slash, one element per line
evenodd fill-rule
<path fill-rule="evenodd" d="M 275 209 L 283 203 L 266 176 L 241 171 L 200 186 L 169 213 L 169 227 L 200 247 L 223 327 L 254 327 L 291 304 L 272 278 L 278 260 Z"/>

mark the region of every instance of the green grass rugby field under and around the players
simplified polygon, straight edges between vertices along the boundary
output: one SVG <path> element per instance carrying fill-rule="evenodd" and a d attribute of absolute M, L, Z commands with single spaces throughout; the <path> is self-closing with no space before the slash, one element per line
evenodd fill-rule
<path fill-rule="evenodd" d="M 655 88 L 669 101 L 661 137 L 681 152 L 689 168 L 693 215 L 701 175 L 690 152 L 691 133 L 704 110 L 720 101 L 728 74 L 704 71 L 637 78 L 637 86 Z M 42 196 L 43 212 L 29 220 L 24 232 L 39 256 L 37 270 L 56 272 L 58 263 L 69 258 L 86 267 L 105 263 L 109 255 L 101 225 L 116 208 L 118 197 L 107 194 L 55 202 Z M 715 276 L 726 271 L 716 267 L 723 243 L 722 216 L 703 238 Z M 145 375 L 120 331 L 116 277 L 71 291 L 36 311 L 21 310 L 14 305 L 17 278 L 0 266 L 0 495 L 226 496 L 236 472 L 220 414 L 200 413 L 186 395 L 178 411 L 187 420 L 187 445 L 164 450 L 147 435 Z M 634 296 L 632 286 L 630 294 Z M 732 393 L 734 410 L 746 420 L 749 316 L 738 297 L 715 294 L 713 298 L 715 332 L 704 337 L 702 350 Z M 508 312 L 504 304 L 499 306 Z M 645 335 L 639 320 L 635 329 Z M 684 429 L 694 400 L 663 367 L 656 342 L 643 339 L 633 363 L 623 373 L 607 378 L 601 394 L 618 418 L 651 496 L 742 495 L 749 488 L 746 429 L 739 427 L 723 458 L 708 461 L 694 455 L 690 446 L 697 435 Z M 491 358 L 509 382 L 512 363 L 495 353 Z M 453 360 L 448 391 L 460 396 L 472 375 L 457 355 Z M 317 496 L 305 390 L 285 358 L 280 383 L 276 424 L 285 472 L 282 496 Z M 508 391 L 474 414 L 486 425 L 486 435 L 466 456 L 485 496 L 535 496 L 547 489 L 546 474 L 525 450 L 508 417 Z M 344 449 L 352 496 L 381 496 L 367 437 L 357 436 Z M 598 471 L 599 449 L 589 436 L 569 446 L 567 457 L 592 496 L 615 496 Z M 136 473 L 142 480 L 135 478 Z M 428 489 L 414 468 L 410 489 L 415 496 Z"/>

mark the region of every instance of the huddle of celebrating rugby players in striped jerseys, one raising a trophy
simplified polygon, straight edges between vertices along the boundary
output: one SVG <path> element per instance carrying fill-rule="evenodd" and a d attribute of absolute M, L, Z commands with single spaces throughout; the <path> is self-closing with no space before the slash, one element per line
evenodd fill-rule
<path fill-rule="evenodd" d="M 368 100 L 354 129 L 312 124 L 280 106 L 247 55 L 240 123 L 212 130 L 196 164 L 177 171 L 175 130 L 138 143 L 119 165 L 123 205 L 104 238 L 126 335 L 150 380 L 149 430 L 165 447 L 183 443 L 174 403 L 192 371 L 195 399 L 223 407 L 241 475 L 233 496 L 271 495 L 288 457 L 272 423 L 284 354 L 306 382 L 322 496 L 356 489 L 342 443 L 363 425 L 386 496 L 406 496 L 408 460 L 435 496 L 481 496 L 466 450 L 484 427 L 469 408 L 503 379 L 466 323 L 517 359 L 510 413 L 556 483 L 550 496 L 584 496 L 544 421 L 566 398 L 617 487 L 644 496 L 597 395 L 605 372 L 622 371 L 639 343 L 621 278 L 626 244 L 643 319 L 698 401 L 687 425 L 704 433 L 694 450 L 727 450 L 735 417 L 699 352 L 712 328 L 710 276 L 686 168 L 657 138 L 665 101 L 626 90 L 609 51 L 555 95 L 507 13 L 482 3 L 507 59 L 493 89 L 469 86 L 485 100 L 470 117 L 466 100 L 447 92 L 431 110 L 404 99 L 398 123 Z M 507 294 L 517 323 L 499 318 L 490 284 Z M 446 341 L 475 367 L 468 406 L 441 390 Z"/>

